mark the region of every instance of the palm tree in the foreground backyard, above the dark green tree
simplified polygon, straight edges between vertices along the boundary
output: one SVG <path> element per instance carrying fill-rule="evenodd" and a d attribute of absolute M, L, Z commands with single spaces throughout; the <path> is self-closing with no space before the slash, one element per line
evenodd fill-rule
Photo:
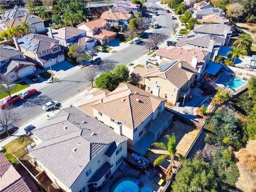
<path fill-rule="evenodd" d="M 176 147 L 175 147 L 175 143 L 176 143 L 176 138 L 175 135 L 172 134 L 172 136 L 170 135 L 165 135 L 165 138 L 168 140 L 167 145 L 165 145 L 165 143 L 163 142 L 154 142 L 152 145 L 154 147 L 157 147 L 161 150 L 164 150 L 164 154 L 160 155 L 159 157 L 157 157 L 154 161 L 154 166 L 162 164 L 167 158 L 171 159 L 171 163 L 170 165 L 167 167 L 166 172 L 170 173 L 172 170 L 172 164 L 174 164 L 174 157 L 176 155 Z"/>

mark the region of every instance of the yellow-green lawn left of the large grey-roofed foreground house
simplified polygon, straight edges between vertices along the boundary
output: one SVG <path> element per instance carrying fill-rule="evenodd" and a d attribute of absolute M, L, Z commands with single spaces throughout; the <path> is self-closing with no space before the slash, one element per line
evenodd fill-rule
<path fill-rule="evenodd" d="M 7 159 L 14 163 L 17 164 L 18 162 L 14 158 L 12 154 L 17 156 L 18 158 L 21 157 L 26 153 L 25 146 L 29 145 L 29 143 L 32 143 L 33 140 L 31 140 L 29 137 L 26 135 L 22 135 L 21 137 L 14 139 L 13 141 L 7 143 L 5 146 L 3 146 L 3 149 L 6 151 L 4 152 L 4 155 L 7 157 Z"/>

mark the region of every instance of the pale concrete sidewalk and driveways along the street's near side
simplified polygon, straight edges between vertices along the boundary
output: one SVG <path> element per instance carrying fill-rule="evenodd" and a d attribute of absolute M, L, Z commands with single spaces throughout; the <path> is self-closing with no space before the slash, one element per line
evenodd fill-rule
<path fill-rule="evenodd" d="M 67 108 L 70 107 L 70 105 L 74 105 L 74 106 L 80 106 L 84 103 L 84 101 L 86 101 L 87 99 L 90 99 L 93 97 L 93 92 L 97 90 L 96 88 L 91 89 L 90 91 L 84 90 L 76 95 L 73 95 L 72 97 L 68 98 L 67 100 L 63 101 L 61 103 L 61 108 Z M 4 145 L 6 145 L 7 143 L 11 142 L 12 140 L 20 137 L 23 134 L 26 134 L 24 128 L 28 125 L 34 125 L 35 127 L 38 127 L 40 125 L 42 125 L 45 121 L 47 121 L 47 115 L 49 114 L 57 114 L 59 112 L 58 110 L 55 111 L 44 111 L 42 109 L 42 113 L 36 117 L 34 117 L 33 119 L 30 119 L 28 122 L 22 124 L 19 127 L 19 130 L 16 134 L 10 136 L 9 138 L 0 141 L 0 147 L 3 147 Z"/>

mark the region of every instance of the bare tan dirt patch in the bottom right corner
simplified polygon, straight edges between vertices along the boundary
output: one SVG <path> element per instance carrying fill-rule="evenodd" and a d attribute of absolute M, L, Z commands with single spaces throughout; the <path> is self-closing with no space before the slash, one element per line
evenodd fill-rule
<path fill-rule="evenodd" d="M 249 169 L 249 166 L 245 165 L 244 162 L 246 162 L 249 158 L 245 157 L 245 159 L 241 159 L 240 156 L 242 153 L 247 154 L 250 157 L 253 155 L 256 156 L 256 140 L 249 140 L 246 148 L 243 148 L 235 153 L 235 156 L 239 157 L 239 161 L 236 163 L 236 165 L 238 166 L 240 174 L 238 181 L 236 182 L 236 187 L 242 191 L 253 192 L 256 191 L 256 167 L 255 165 L 253 166 L 252 163 L 249 163 L 252 171 L 248 171 L 247 169 Z M 255 162 L 255 159 L 252 159 L 252 161 Z"/>

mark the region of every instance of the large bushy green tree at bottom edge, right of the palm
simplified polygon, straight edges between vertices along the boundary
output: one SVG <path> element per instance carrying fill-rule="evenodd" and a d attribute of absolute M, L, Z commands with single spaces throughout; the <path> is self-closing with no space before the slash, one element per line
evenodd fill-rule
<path fill-rule="evenodd" d="M 172 184 L 173 192 L 188 191 L 218 191 L 218 182 L 214 170 L 209 163 L 199 157 L 185 160 Z"/>

